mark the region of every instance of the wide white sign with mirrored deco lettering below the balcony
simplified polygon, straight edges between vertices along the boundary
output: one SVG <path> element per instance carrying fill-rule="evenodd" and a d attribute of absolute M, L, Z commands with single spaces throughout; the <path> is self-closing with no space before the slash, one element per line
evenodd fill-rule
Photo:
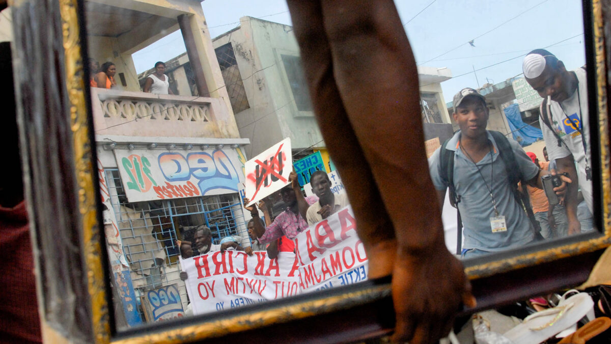
<path fill-rule="evenodd" d="M 114 155 L 130 202 L 234 193 L 244 180 L 239 149 L 115 149 Z"/>

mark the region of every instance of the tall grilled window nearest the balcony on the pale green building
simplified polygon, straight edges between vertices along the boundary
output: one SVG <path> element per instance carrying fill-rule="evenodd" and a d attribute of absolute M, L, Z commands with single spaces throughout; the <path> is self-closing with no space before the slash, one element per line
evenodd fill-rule
<path fill-rule="evenodd" d="M 221 67 L 221 73 L 225 81 L 225 87 L 227 87 L 233 113 L 240 113 L 250 108 L 240 69 L 238 69 L 238 61 L 236 61 L 235 54 L 233 54 L 231 43 L 221 45 L 221 47 L 214 49 L 214 51 Z"/>

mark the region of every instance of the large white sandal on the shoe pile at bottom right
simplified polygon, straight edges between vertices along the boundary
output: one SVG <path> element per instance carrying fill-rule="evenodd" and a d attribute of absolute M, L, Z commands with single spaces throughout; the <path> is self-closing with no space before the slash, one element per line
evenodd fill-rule
<path fill-rule="evenodd" d="M 593 307 L 594 301 L 590 295 L 578 293 L 561 300 L 557 307 L 527 316 L 503 336 L 514 343 L 538 344 L 576 324 Z"/>

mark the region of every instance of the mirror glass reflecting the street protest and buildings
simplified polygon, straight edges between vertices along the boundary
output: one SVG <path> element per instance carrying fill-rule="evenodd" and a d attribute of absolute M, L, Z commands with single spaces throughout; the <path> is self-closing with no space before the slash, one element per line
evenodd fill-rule
<path fill-rule="evenodd" d="M 86 62 L 119 330 L 257 307 L 259 302 L 367 279 L 367 256 L 316 126 L 287 5 L 283 0 L 193 4 L 85 1 Z M 532 152 L 544 170 L 544 146 L 549 157 L 566 157 L 552 131 L 552 142 L 543 140 L 538 119 L 543 99 L 525 80 L 522 60 L 536 48 L 549 50 L 563 62 L 561 71 L 579 73 L 579 89 L 587 94 L 581 78 L 585 39 L 580 1 L 396 4 L 418 65 L 429 157 L 456 130 L 477 131 L 478 125 L 453 116 L 453 96 L 467 87 L 485 97 L 480 110 L 487 114 L 486 129 L 517 141 L 507 147 L 516 152 L 516 163 L 526 174 L 532 176 L 536 167 L 523 151 Z M 573 80 L 574 74 L 567 73 L 567 80 Z M 479 99 L 471 95 L 465 100 L 474 98 Z M 553 118 L 552 129 L 562 129 L 558 134 L 568 136 L 561 140 L 570 137 L 577 148 L 586 138 L 589 154 L 584 99 L 582 112 L 566 105 L 569 121 Z M 557 104 L 551 103 L 552 113 L 564 116 Z M 287 137 L 288 143 L 283 141 Z M 497 170 L 500 176 L 492 174 L 491 184 L 499 215 L 485 215 L 485 231 L 473 228 L 481 219 L 469 219 L 474 204 L 480 212 L 492 206 L 488 193 L 481 196 L 486 183 L 478 178 L 491 178 L 485 162 L 501 148 L 491 146 L 492 155 L 480 158 L 481 170 L 469 174 L 473 180 L 454 181 L 466 228 L 458 248 L 456 211 L 448 201 L 444 205 L 448 250 L 476 249 L 467 259 L 477 250 L 493 253 L 533 241 L 529 217 L 523 209 L 514 215 L 519 212 L 513 198 L 517 194 L 499 186 L 503 169 Z M 457 152 L 456 159 L 462 155 Z M 584 154 L 578 155 L 573 153 L 577 171 L 585 173 Z M 295 211 L 295 194 L 272 186 L 286 184 L 293 168 L 305 200 L 320 208 L 312 212 L 310 223 L 324 217 L 324 225 L 306 230 Z M 457 163 L 455 168 L 464 166 Z M 315 171 L 323 172 L 312 176 Z M 312 182 L 319 179 L 326 186 L 315 192 Z M 579 200 L 584 200 L 577 206 L 580 231 L 591 231 L 591 186 L 581 178 L 576 184 Z M 249 185 L 257 191 L 249 191 Z M 565 208 L 555 206 L 551 228 L 546 194 L 524 186 L 525 195 L 533 195 L 534 219 L 547 224 L 541 226 L 547 239 L 540 242 L 567 236 Z M 494 195 L 498 188 L 504 191 Z M 316 201 L 325 192 L 334 195 L 332 210 Z M 449 194 L 445 192 L 446 199 Z M 257 214 L 244 208 L 244 195 L 263 200 Z M 263 236 L 269 246 L 257 240 L 256 228 L 249 228 L 257 227 L 257 221 L 267 227 Z M 521 234 L 508 234 L 514 232 Z"/>

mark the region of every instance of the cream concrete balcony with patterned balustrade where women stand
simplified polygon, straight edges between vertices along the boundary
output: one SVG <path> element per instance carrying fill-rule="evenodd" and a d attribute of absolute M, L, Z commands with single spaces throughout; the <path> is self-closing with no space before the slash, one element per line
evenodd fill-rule
<path fill-rule="evenodd" d="M 100 65 L 111 62 L 116 70 L 116 85 L 112 89 L 91 88 L 97 135 L 240 137 L 199 2 L 87 0 L 85 9 L 89 58 Z M 144 49 L 144 54 L 154 55 L 150 51 L 155 50 L 147 52 L 145 48 L 170 34 L 177 36 L 178 32 L 192 66 L 192 86 L 196 92 L 182 95 L 142 92 L 133 54 Z M 92 61 L 89 62 L 91 65 Z"/>

